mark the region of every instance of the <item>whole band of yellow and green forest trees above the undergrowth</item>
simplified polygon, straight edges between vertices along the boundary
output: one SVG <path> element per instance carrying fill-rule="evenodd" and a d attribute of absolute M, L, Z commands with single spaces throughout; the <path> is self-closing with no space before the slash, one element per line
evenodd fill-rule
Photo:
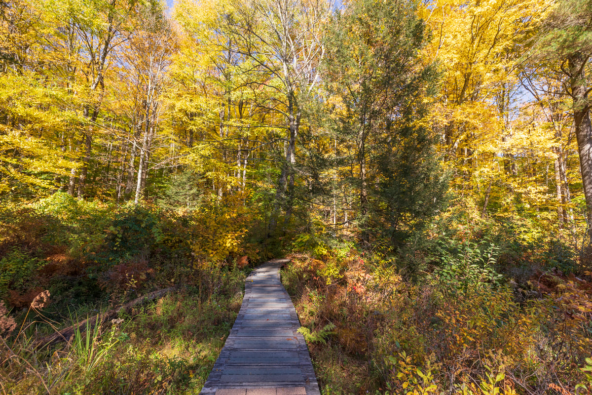
<path fill-rule="evenodd" d="M 3 200 L 247 205 L 265 237 L 320 221 L 367 245 L 453 207 L 572 242 L 591 228 L 588 2 L 20 0 L 1 16 Z"/>

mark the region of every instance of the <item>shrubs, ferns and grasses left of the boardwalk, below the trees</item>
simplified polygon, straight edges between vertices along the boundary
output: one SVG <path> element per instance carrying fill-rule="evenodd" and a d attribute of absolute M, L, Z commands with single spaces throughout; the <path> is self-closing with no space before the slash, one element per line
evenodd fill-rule
<path fill-rule="evenodd" d="M 198 236 L 204 223 L 197 214 L 150 205 L 114 207 L 54 194 L 3 207 L 1 393 L 199 393 L 240 309 L 249 271 L 247 256 L 231 258 L 239 252 L 238 224 L 218 224 L 224 246 Z M 206 260 L 210 250 L 227 260 Z M 166 292 L 108 314 L 155 290 Z"/>

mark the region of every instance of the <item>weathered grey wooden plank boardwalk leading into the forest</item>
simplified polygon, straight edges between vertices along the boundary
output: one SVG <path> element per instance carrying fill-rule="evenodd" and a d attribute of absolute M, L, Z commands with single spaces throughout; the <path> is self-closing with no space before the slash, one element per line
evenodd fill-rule
<path fill-rule="evenodd" d="M 279 281 L 288 259 L 247 277 L 243 304 L 201 395 L 320 395 L 294 305 Z"/>

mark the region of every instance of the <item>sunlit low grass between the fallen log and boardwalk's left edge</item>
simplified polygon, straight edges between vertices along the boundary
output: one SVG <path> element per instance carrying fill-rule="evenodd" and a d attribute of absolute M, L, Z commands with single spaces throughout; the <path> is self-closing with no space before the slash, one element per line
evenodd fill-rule
<path fill-rule="evenodd" d="M 57 348 L 36 347 L 39 334 L 58 323 L 47 319 L 41 311 L 44 306 L 33 309 L 16 335 L 12 328 L 0 339 L 1 390 L 198 394 L 240 309 L 245 278 L 237 266 L 208 269 L 218 274 L 213 293 L 200 297 L 199 287 L 181 287 L 110 322 L 83 326 Z M 4 320 L 9 319 L 6 313 Z"/>

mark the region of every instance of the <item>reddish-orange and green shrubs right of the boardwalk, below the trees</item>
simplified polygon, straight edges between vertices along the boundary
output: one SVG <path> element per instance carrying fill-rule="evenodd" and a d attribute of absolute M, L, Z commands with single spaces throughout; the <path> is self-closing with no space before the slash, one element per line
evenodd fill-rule
<path fill-rule="evenodd" d="M 590 266 L 507 232 L 480 221 L 397 254 L 310 236 L 282 282 L 321 392 L 591 393 Z"/>

